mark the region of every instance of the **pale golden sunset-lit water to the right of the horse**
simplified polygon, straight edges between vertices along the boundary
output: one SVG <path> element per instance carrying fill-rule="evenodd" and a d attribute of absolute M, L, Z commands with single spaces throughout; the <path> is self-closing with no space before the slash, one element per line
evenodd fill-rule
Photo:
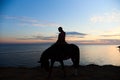
<path fill-rule="evenodd" d="M 83 45 L 80 46 L 82 65 L 116 65 L 120 66 L 120 53 L 116 45 Z"/>

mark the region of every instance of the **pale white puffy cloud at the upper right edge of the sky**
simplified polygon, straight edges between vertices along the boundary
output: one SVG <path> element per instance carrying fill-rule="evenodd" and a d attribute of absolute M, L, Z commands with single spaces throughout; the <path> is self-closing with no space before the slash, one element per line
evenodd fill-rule
<path fill-rule="evenodd" d="M 96 15 L 90 18 L 91 22 L 120 22 L 120 11 L 113 10 L 111 13 L 104 13 L 103 15 Z"/>

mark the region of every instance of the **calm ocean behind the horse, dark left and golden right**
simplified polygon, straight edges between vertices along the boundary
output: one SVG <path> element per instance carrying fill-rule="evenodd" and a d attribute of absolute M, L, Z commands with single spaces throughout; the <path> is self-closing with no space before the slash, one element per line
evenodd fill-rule
<path fill-rule="evenodd" d="M 51 44 L 1 44 L 0 67 L 36 67 L 42 52 Z M 114 65 L 120 66 L 118 45 L 77 45 L 80 49 L 80 65 Z M 65 60 L 65 65 L 72 65 Z M 59 66 L 55 62 L 55 66 Z"/>

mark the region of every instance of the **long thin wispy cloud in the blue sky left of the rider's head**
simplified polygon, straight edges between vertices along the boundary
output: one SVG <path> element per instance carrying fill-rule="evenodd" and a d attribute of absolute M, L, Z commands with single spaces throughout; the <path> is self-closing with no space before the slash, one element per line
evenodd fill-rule
<path fill-rule="evenodd" d="M 61 26 L 60 24 L 57 24 L 55 22 L 42 21 L 42 20 L 37 20 L 37 19 L 33 19 L 33 18 L 30 18 L 30 17 L 24 17 L 24 16 L 0 15 L 0 18 L 7 19 L 7 20 L 18 21 L 18 24 L 20 26 L 35 26 L 35 27 L 56 27 L 56 26 Z"/>

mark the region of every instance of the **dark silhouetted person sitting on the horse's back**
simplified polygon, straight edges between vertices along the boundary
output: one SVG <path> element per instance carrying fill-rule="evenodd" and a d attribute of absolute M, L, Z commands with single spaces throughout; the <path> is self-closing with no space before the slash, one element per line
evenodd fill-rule
<path fill-rule="evenodd" d="M 66 33 L 63 31 L 62 27 L 59 27 L 59 28 L 58 28 L 58 31 L 59 31 L 60 33 L 59 33 L 59 35 L 58 35 L 58 40 L 56 41 L 55 44 L 57 44 L 57 45 L 66 44 L 66 41 L 65 41 Z"/>

